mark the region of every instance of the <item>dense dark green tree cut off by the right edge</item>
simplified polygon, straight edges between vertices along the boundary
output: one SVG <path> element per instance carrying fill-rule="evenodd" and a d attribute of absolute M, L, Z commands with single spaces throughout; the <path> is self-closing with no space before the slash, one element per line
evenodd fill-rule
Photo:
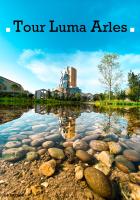
<path fill-rule="evenodd" d="M 140 100 L 140 74 L 134 74 L 134 72 L 130 71 L 128 73 L 128 85 L 130 88 L 130 92 L 128 97 L 132 101 Z"/>

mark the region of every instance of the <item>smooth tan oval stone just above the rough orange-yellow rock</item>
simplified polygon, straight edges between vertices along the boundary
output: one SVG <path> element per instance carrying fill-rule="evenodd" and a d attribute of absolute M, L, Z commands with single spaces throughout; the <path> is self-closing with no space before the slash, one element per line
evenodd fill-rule
<path fill-rule="evenodd" d="M 49 148 L 48 152 L 50 154 L 51 157 L 56 158 L 56 159 L 64 159 L 65 158 L 65 154 L 63 152 L 62 149 L 59 148 Z"/>

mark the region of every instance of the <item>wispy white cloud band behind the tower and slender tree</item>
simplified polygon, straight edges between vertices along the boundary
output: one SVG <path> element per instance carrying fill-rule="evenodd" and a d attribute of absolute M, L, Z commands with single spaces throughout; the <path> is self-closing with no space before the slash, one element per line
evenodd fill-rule
<path fill-rule="evenodd" d="M 59 85 L 61 71 L 67 66 L 73 66 L 78 71 L 78 86 L 83 92 L 98 93 L 104 90 L 99 82 L 98 64 L 103 57 L 103 51 L 51 54 L 41 49 L 24 50 L 18 63 L 30 70 L 40 81 L 46 83 L 46 88 L 56 88 Z M 130 69 L 138 73 L 140 66 L 139 54 L 120 55 L 120 65 L 124 71 L 124 81 Z"/>

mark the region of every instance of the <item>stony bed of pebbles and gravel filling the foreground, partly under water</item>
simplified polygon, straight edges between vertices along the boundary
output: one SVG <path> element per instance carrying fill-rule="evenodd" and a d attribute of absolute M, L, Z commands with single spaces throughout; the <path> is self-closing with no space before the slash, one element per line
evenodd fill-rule
<path fill-rule="evenodd" d="M 35 111 L 0 125 L 1 200 L 140 200 L 138 117 Z"/>

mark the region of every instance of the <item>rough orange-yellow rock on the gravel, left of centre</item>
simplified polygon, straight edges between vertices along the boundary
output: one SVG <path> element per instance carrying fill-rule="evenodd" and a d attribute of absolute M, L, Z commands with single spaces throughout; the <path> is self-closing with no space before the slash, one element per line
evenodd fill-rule
<path fill-rule="evenodd" d="M 40 174 L 49 177 L 54 174 L 55 167 L 56 167 L 56 161 L 54 159 L 52 159 L 52 160 L 49 160 L 48 162 L 44 162 L 39 167 L 39 172 L 40 172 Z"/>

